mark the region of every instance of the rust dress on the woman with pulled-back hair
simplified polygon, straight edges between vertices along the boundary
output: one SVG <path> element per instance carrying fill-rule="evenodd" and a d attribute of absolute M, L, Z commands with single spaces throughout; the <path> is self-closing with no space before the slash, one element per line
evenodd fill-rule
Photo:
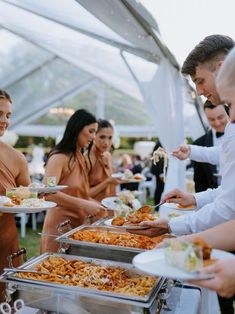
<path fill-rule="evenodd" d="M 102 183 L 105 179 L 111 176 L 112 174 L 112 167 L 108 162 L 108 159 L 105 158 L 105 156 L 97 149 L 96 146 L 93 147 L 93 152 L 96 157 L 95 164 L 93 168 L 90 170 L 88 174 L 89 178 L 89 185 L 90 187 L 94 187 L 100 183 Z M 98 193 L 93 198 L 96 201 L 102 201 L 103 198 L 115 195 L 115 185 L 114 184 L 108 184 L 107 187 Z"/>

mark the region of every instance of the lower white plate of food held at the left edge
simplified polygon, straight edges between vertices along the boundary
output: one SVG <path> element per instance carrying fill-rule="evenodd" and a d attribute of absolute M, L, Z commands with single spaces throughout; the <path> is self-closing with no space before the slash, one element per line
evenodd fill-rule
<path fill-rule="evenodd" d="M 8 197 L 1 198 L 0 212 L 2 213 L 38 213 L 49 208 L 55 207 L 57 204 L 54 202 L 48 202 L 38 198 L 28 198 L 14 203 L 14 201 Z"/>

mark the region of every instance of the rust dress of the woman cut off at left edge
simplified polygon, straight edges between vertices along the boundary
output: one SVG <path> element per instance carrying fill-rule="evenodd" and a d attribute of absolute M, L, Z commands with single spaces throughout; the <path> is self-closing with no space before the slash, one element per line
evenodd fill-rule
<path fill-rule="evenodd" d="M 0 195 L 6 194 L 6 189 L 16 187 L 15 178 L 10 169 L 0 160 Z M 8 267 L 7 257 L 18 250 L 18 236 L 14 214 L 0 213 L 0 273 Z M 19 266 L 19 260 L 14 261 Z M 0 284 L 0 303 L 4 297 L 4 284 Z"/>

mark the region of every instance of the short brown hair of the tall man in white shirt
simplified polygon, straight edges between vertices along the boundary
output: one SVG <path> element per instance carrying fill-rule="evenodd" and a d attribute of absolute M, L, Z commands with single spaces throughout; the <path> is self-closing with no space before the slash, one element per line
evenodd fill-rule
<path fill-rule="evenodd" d="M 184 61 L 181 72 L 190 76 L 195 75 L 196 67 L 200 63 L 224 60 L 234 45 L 233 39 L 229 36 L 207 36 L 190 52 Z"/>

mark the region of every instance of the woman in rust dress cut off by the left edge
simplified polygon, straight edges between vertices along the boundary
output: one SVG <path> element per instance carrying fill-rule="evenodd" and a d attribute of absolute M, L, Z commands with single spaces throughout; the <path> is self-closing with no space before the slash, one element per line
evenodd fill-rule
<path fill-rule="evenodd" d="M 0 90 L 0 136 L 9 126 L 12 100 L 10 95 Z M 6 195 L 6 189 L 30 183 L 28 165 L 25 157 L 11 146 L 0 141 L 0 195 Z M 8 267 L 7 256 L 18 250 L 18 237 L 14 214 L 0 211 L 0 274 Z M 18 260 L 15 261 L 18 266 Z M 4 284 L 0 284 L 0 303 L 4 299 Z"/>

